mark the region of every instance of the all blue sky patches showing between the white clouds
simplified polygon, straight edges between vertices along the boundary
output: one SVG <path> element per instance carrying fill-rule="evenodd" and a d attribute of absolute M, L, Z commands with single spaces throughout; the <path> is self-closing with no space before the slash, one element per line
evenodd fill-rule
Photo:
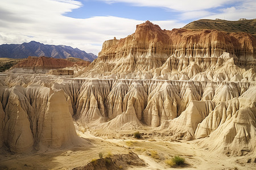
<path fill-rule="evenodd" d="M 197 18 L 197 16 L 191 16 L 189 19 L 182 18 L 184 11 L 177 10 L 176 8 L 141 6 L 136 5 L 135 3 L 127 3 L 129 1 L 107 2 L 100 0 L 84 0 L 79 2 L 81 2 L 81 7 L 76 8 L 71 12 L 67 12 L 67 14 L 64 15 L 77 19 L 92 18 L 94 16 L 117 16 L 135 20 L 180 20 L 184 23 L 200 19 L 200 17 Z M 201 14 L 203 14 L 203 12 L 208 12 L 207 14 L 218 14 L 223 8 L 238 7 L 239 5 L 240 2 L 238 1 L 224 1 L 217 6 L 205 8 L 204 11 L 201 11 Z M 225 15 L 223 15 L 221 19 L 224 18 Z"/>

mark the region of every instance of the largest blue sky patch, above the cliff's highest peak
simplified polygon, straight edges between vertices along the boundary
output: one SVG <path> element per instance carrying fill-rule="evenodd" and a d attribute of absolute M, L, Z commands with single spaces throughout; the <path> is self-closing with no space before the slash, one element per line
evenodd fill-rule
<path fill-rule="evenodd" d="M 72 18 L 91 18 L 93 16 L 117 16 L 136 20 L 170 20 L 177 18 L 177 12 L 163 7 L 134 6 L 129 3 L 106 3 L 103 1 L 80 1 L 82 6 L 68 12 Z"/>

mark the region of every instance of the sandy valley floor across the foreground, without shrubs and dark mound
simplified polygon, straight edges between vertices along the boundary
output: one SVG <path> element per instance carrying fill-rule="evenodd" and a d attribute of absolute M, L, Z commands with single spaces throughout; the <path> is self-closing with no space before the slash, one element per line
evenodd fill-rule
<path fill-rule="evenodd" d="M 152 139 L 122 137 L 110 139 L 96 137 L 76 125 L 77 134 L 84 138 L 85 146 L 74 146 L 57 151 L 37 152 L 30 155 L 2 153 L 0 169 L 72 169 L 98 159 L 98 153 L 127 154 L 133 151 L 147 164 L 146 167 L 128 169 L 255 169 L 256 163 L 246 163 L 249 156 L 228 157 L 198 147 L 194 141 L 170 142 Z M 132 133 L 132 132 L 131 132 Z M 89 144 L 88 144 L 89 143 Z M 185 158 L 183 167 L 170 168 L 164 161 L 174 155 Z"/>

